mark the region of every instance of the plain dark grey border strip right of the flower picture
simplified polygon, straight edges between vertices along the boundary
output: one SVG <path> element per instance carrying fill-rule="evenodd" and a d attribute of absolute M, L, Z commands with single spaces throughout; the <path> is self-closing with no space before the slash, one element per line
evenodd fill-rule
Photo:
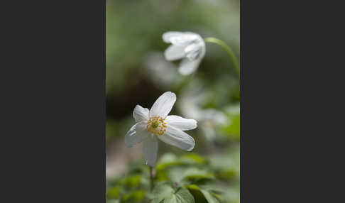
<path fill-rule="evenodd" d="M 332 115 L 344 92 L 342 51 L 332 47 L 344 38 L 341 8 L 241 0 L 242 203 L 344 199 L 331 163 L 344 160 L 334 139 L 342 119 Z"/>

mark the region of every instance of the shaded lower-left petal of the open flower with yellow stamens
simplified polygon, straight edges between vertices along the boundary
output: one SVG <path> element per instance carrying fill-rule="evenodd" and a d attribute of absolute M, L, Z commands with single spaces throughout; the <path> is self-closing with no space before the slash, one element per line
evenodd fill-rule
<path fill-rule="evenodd" d="M 131 127 L 125 136 L 126 147 L 131 148 L 133 145 L 141 143 L 150 135 L 150 132 L 146 130 L 146 125 L 147 123 L 143 121 Z"/>

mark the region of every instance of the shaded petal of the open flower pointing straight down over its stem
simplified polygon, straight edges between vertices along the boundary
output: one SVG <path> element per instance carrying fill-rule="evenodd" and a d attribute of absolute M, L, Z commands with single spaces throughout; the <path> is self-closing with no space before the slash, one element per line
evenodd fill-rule
<path fill-rule="evenodd" d="M 155 166 L 155 161 L 157 160 L 157 151 L 157 138 L 155 136 L 148 136 L 148 138 L 143 141 L 143 155 L 146 165 L 150 165 L 152 167 Z"/>

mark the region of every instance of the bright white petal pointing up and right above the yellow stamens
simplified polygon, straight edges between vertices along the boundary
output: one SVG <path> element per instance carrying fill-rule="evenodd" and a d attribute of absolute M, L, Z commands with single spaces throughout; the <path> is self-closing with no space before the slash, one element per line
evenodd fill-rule
<path fill-rule="evenodd" d="M 164 118 L 165 116 L 168 116 L 172 106 L 175 104 L 175 101 L 176 95 L 173 92 L 165 92 L 160 95 L 150 109 L 150 117 L 160 116 Z"/>

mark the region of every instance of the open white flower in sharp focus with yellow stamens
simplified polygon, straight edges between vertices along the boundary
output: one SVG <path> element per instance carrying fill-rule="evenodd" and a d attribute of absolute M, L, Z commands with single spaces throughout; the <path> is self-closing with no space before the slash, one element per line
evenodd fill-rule
<path fill-rule="evenodd" d="M 165 92 L 155 101 L 150 110 L 136 105 L 133 117 L 136 124 L 125 137 L 126 147 L 143 142 L 143 157 L 146 165 L 154 166 L 157 160 L 158 139 L 182 150 L 190 151 L 194 139 L 184 131 L 197 128 L 197 121 L 180 116 L 168 116 L 175 104 L 176 95 Z"/>

